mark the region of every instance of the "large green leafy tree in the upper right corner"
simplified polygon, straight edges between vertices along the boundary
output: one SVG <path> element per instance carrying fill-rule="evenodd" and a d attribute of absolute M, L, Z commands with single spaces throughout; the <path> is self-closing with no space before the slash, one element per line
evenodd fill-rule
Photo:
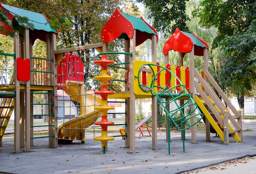
<path fill-rule="evenodd" d="M 243 114 L 244 96 L 252 88 L 255 79 L 256 42 L 250 32 L 255 32 L 256 2 L 204 0 L 200 5 L 202 10 L 197 13 L 200 24 L 218 28 L 214 46 L 221 47 L 227 56 L 222 76 L 236 93 Z"/>

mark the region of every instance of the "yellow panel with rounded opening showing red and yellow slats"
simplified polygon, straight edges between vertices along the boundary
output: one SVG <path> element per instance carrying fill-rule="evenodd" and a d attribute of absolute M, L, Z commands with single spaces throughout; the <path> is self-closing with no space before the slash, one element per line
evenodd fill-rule
<path fill-rule="evenodd" d="M 142 85 L 141 84 L 141 81 L 139 83 L 139 79 L 141 79 L 141 72 L 139 72 L 139 70 L 146 64 L 150 64 L 150 65 L 153 65 L 151 66 L 151 68 L 153 69 L 153 71 L 155 72 L 154 74 L 157 73 L 157 66 L 156 63 L 152 63 L 152 62 L 146 62 L 146 61 L 140 61 L 140 60 L 135 60 L 133 62 L 133 74 L 134 74 L 134 77 L 130 77 L 131 80 L 133 80 L 133 91 L 134 91 L 134 94 L 135 95 L 152 95 L 151 92 L 150 92 L 150 89 L 144 89 L 142 90 L 142 87 L 140 87 L 139 85 Z M 150 85 L 152 82 L 152 76 L 153 76 L 153 73 L 151 72 L 147 72 L 147 86 L 150 88 Z M 157 81 L 155 80 L 155 85 L 157 85 Z M 148 92 L 147 92 L 148 91 Z M 153 87 L 153 91 L 155 91 L 155 93 L 157 93 L 157 87 Z"/>

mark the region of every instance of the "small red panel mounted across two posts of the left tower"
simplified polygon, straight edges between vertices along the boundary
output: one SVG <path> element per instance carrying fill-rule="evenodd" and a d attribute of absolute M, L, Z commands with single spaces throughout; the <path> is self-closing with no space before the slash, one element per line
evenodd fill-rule
<path fill-rule="evenodd" d="M 30 61 L 29 58 L 22 60 L 22 58 L 17 58 L 17 79 L 23 82 L 29 81 L 30 79 Z"/>

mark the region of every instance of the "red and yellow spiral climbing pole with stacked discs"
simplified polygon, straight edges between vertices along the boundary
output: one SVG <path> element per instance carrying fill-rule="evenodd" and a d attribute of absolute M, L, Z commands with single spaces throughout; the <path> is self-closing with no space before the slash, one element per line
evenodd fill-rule
<path fill-rule="evenodd" d="M 95 106 L 95 109 L 101 111 L 101 121 L 94 123 L 95 125 L 101 126 L 101 136 L 94 137 L 93 140 L 101 141 L 101 146 L 103 150 L 103 154 L 106 153 L 106 147 L 108 147 L 108 141 L 112 141 L 115 138 L 112 136 L 108 136 L 108 126 L 114 125 L 114 122 L 108 121 L 108 110 L 114 109 L 114 107 L 108 106 L 108 95 L 114 94 L 114 91 L 108 91 L 108 81 L 113 79 L 113 76 L 108 75 L 107 67 L 108 65 L 114 64 L 112 60 L 107 59 L 107 55 L 101 55 L 101 60 L 95 60 L 94 64 L 101 66 L 101 75 L 95 76 L 94 79 L 101 81 L 101 91 L 95 91 L 95 95 L 101 95 L 101 106 Z"/>

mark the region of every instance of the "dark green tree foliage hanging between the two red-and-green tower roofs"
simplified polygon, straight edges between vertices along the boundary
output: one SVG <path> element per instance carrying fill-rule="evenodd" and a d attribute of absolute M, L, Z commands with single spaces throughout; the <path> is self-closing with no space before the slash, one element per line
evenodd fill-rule
<path fill-rule="evenodd" d="M 153 27 L 163 33 L 173 33 L 178 27 L 182 31 L 189 31 L 186 22 L 186 2 L 189 0 L 138 0 L 148 9 L 148 18 L 153 18 Z"/>

